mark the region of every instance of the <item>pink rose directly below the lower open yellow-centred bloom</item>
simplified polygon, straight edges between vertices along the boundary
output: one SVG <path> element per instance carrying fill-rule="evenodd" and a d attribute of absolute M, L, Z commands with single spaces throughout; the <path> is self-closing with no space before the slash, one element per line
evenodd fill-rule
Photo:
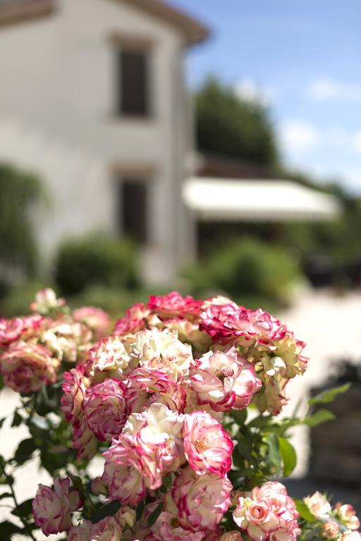
<path fill-rule="evenodd" d="M 166 495 L 165 510 L 178 516 L 179 524 L 185 530 L 213 530 L 231 503 L 231 492 L 232 485 L 226 476 L 197 475 L 186 466 Z"/>

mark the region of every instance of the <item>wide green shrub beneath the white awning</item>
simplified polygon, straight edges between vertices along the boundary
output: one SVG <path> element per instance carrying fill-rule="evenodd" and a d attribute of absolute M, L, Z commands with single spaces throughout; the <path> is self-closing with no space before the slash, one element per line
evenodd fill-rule
<path fill-rule="evenodd" d="M 284 248 L 244 237 L 215 251 L 187 275 L 196 294 L 224 292 L 241 304 L 252 298 L 284 304 L 300 269 Z"/>

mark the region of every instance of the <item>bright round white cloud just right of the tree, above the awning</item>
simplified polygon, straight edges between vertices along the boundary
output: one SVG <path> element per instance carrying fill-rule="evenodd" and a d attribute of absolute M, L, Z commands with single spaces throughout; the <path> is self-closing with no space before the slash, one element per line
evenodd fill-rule
<path fill-rule="evenodd" d="M 281 147 L 290 153 L 301 152 L 317 147 L 321 141 L 321 132 L 316 125 L 289 118 L 279 128 Z"/>

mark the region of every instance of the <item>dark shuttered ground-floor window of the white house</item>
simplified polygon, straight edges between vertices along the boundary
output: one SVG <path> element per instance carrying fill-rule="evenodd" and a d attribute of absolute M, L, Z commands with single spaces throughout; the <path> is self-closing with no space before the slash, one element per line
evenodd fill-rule
<path fill-rule="evenodd" d="M 148 209 L 149 185 L 146 180 L 126 179 L 120 184 L 121 234 L 147 244 L 149 241 Z"/>

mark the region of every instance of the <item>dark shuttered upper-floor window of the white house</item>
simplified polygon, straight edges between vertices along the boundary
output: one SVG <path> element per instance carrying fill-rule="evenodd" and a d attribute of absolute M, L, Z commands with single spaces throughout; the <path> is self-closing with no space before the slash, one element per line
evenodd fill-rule
<path fill-rule="evenodd" d="M 120 116 L 149 116 L 149 55 L 145 50 L 117 51 L 116 109 Z"/>

